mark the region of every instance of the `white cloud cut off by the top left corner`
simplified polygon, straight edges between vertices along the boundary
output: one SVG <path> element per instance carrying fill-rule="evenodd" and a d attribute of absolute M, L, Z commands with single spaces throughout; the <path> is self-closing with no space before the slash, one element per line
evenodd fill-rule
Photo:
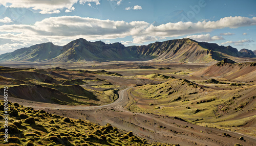
<path fill-rule="evenodd" d="M 38 0 L 0 0 L 0 5 L 2 4 L 5 7 L 13 8 L 32 8 L 34 10 L 41 10 L 41 14 L 53 14 L 60 13 L 62 9 L 66 9 L 65 12 L 71 12 L 74 10 L 73 5 L 77 2 L 80 4 L 95 3 L 96 5 L 100 5 L 99 1 L 100 0 L 51 0 L 42 2 Z"/>

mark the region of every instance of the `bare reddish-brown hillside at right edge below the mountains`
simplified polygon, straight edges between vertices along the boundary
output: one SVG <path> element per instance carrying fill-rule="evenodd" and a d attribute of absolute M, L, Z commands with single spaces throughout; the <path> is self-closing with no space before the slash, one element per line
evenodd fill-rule
<path fill-rule="evenodd" d="M 218 77 L 228 80 L 238 81 L 256 81 L 256 63 L 245 62 L 236 63 L 232 60 L 224 59 L 215 65 L 211 65 L 205 69 L 197 71 L 192 75 Z"/>

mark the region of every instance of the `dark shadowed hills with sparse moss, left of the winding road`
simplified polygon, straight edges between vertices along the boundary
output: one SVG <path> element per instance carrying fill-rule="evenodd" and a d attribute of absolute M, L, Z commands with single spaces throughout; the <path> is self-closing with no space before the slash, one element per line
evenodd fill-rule
<path fill-rule="evenodd" d="M 122 76 L 102 70 L 17 69 L 0 66 L 0 93 L 8 86 L 10 96 L 18 99 L 61 105 L 98 105 L 118 98 L 116 89 L 108 81 L 88 81 L 90 75 Z M 90 85 L 88 85 L 89 83 Z M 109 85 L 100 90 L 91 85 Z M 88 86 L 87 86 L 88 85 Z M 86 88 L 88 87 L 88 88 Z"/>

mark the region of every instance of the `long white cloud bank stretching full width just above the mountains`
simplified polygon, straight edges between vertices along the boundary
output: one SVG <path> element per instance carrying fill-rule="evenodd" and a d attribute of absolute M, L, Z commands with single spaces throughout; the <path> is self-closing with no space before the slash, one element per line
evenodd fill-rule
<path fill-rule="evenodd" d="M 1 0 L 0 0 L 1 1 Z M 71 7 L 72 8 L 72 7 Z M 226 21 L 232 21 L 227 25 Z M 114 21 L 79 16 L 50 17 L 37 21 L 34 25 L 0 26 L 0 39 L 35 42 L 56 42 L 63 45 L 77 38 L 87 40 L 114 39 L 130 36 L 133 43 L 156 41 L 160 38 L 187 35 L 192 39 L 212 41 L 223 39 L 221 36 L 191 35 L 211 32 L 215 29 L 255 26 L 256 17 L 225 17 L 218 21 L 177 22 L 154 26 L 145 21 Z M 126 42 L 128 43 L 128 42 Z"/>

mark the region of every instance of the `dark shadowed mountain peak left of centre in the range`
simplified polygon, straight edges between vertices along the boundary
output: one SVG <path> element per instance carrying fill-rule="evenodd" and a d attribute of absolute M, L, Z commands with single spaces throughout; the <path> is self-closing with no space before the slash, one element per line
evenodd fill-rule
<path fill-rule="evenodd" d="M 131 60 L 130 52 L 121 43 L 105 44 L 102 41 L 89 42 L 77 39 L 63 46 L 59 56 L 52 61 L 77 62 L 77 61 L 106 61 L 106 60 Z"/>

